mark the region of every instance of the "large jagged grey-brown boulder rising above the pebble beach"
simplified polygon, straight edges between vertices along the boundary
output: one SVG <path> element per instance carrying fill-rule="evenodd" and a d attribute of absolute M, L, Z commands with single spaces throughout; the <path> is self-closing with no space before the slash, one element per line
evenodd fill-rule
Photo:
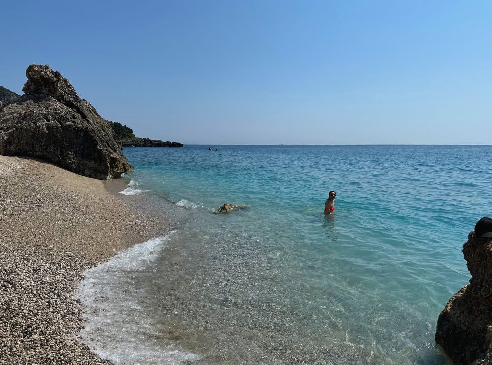
<path fill-rule="evenodd" d="M 38 157 L 103 180 L 131 169 L 110 123 L 67 79 L 48 65 L 30 65 L 26 75 L 25 94 L 0 110 L 0 155 Z"/>

